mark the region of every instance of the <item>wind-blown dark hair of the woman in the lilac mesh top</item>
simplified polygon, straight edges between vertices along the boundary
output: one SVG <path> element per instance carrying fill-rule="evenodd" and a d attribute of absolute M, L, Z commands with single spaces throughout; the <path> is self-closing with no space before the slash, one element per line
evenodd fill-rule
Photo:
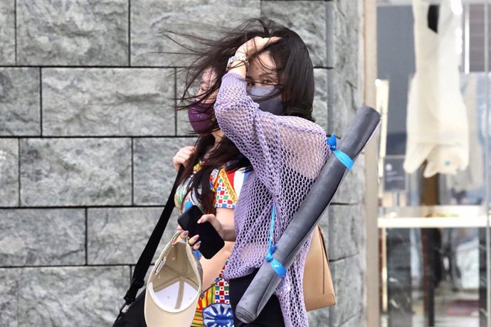
<path fill-rule="evenodd" d="M 253 18 L 241 23 L 236 28 L 221 31 L 223 36 L 217 39 L 208 39 L 201 36 L 191 36 L 185 33 L 177 33 L 189 39 L 195 45 L 193 48 L 184 46 L 189 52 L 184 55 L 194 54 L 196 60 L 184 68 L 186 73 L 186 86 L 183 95 L 179 98 L 181 104 L 178 109 L 186 109 L 196 103 L 196 94 L 191 94 L 191 85 L 199 80 L 204 71 L 212 68 L 217 79 L 211 87 L 201 95 L 206 99 L 219 89 L 221 77 L 226 74 L 228 58 L 235 55 L 236 50 L 250 38 L 280 37 L 275 43 L 270 43 L 260 53 L 269 51 L 277 68 L 278 88 L 283 95 L 283 109 L 287 116 L 297 116 L 315 121 L 312 117 L 312 103 L 314 102 L 314 69 L 310 59 L 307 45 L 297 33 L 275 21 L 267 18 Z M 174 40 L 174 39 L 173 39 Z M 175 40 L 174 40 L 175 41 Z M 179 43 L 181 44 L 181 43 Z M 250 58 L 250 59 L 252 59 Z M 199 100 L 198 102 L 201 102 Z M 215 128 L 218 128 L 216 125 Z"/>

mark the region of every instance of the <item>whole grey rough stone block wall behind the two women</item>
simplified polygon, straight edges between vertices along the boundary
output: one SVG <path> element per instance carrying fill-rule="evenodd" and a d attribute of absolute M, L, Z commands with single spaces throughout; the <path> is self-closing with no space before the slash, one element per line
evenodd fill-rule
<path fill-rule="evenodd" d="M 195 140 L 173 109 L 189 58 L 164 53 L 179 49 L 163 31 L 212 36 L 210 24 L 261 15 L 294 29 L 315 65 L 316 122 L 342 136 L 362 95 L 357 2 L 0 1 L 1 325 L 115 318 L 171 158 Z M 338 303 L 310 326 L 364 326 L 364 160 L 320 223 Z"/>

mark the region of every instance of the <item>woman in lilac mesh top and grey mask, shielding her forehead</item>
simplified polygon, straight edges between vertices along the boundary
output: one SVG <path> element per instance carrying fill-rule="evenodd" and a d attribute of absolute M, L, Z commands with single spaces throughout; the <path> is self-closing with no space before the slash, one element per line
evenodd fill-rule
<path fill-rule="evenodd" d="M 202 55 L 191 71 L 213 67 L 223 76 L 209 87 L 219 87 L 214 114 L 252 166 L 233 223 L 213 213 L 198 221 L 210 222 L 223 240 L 235 242 L 223 273 L 234 313 L 265 260 L 282 277 L 258 318 L 243 323 L 234 314 L 234 326 L 308 326 L 302 279 L 310 240 L 287 271 L 273 261 L 274 245 L 330 155 L 326 132 L 313 123 L 314 70 L 307 46 L 294 31 L 263 19 L 246 21 L 218 40 L 191 40 Z M 199 249 L 199 238 L 189 244 Z"/>

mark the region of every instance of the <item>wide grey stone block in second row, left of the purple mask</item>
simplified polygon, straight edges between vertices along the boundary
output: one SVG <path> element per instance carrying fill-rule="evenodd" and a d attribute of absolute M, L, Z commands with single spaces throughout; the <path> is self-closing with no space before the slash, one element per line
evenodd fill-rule
<path fill-rule="evenodd" d="M 43 69 L 43 135 L 174 136 L 172 73 L 171 68 Z"/>

